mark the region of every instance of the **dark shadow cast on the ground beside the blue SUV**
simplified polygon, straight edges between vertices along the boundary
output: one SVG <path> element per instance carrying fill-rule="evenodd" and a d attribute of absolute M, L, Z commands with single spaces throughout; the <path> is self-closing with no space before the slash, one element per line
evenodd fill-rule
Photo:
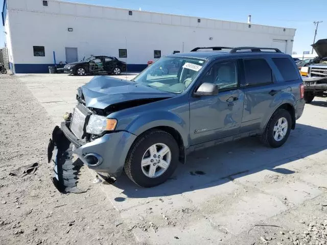
<path fill-rule="evenodd" d="M 297 124 L 281 148 L 268 148 L 258 137 L 250 137 L 192 153 L 187 156 L 186 164 L 179 164 L 173 176 L 159 186 L 136 187 L 126 175 L 113 186 L 128 198 L 148 198 L 219 186 L 265 169 L 291 175 L 293 170 L 278 166 L 327 149 L 326 137 L 327 130 Z M 123 202 L 125 198 L 120 196 L 114 200 Z"/>

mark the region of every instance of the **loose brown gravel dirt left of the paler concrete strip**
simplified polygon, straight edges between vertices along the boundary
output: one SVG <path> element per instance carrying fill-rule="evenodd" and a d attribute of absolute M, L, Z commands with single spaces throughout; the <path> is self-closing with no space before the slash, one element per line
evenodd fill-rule
<path fill-rule="evenodd" d="M 80 173 L 80 194 L 61 194 L 51 181 L 47 140 L 54 123 L 27 87 L 0 78 L 0 244 L 134 244 L 119 213 Z M 33 175 L 9 176 L 37 162 Z"/>

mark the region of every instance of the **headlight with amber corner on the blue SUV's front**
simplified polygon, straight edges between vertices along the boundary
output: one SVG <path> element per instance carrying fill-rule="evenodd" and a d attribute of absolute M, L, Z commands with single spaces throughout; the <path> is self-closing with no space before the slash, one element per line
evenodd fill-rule
<path fill-rule="evenodd" d="M 104 116 L 91 115 L 86 126 L 86 132 L 89 134 L 101 134 L 106 130 L 114 130 L 116 125 L 116 119 L 108 119 Z"/>

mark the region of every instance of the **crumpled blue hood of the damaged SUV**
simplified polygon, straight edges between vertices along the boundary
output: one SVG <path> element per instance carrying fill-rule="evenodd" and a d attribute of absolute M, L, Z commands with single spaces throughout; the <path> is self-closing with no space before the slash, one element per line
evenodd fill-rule
<path fill-rule="evenodd" d="M 150 103 L 151 99 L 156 101 L 155 99 L 175 96 L 173 93 L 139 83 L 105 76 L 94 77 L 90 82 L 78 88 L 78 95 L 84 98 L 86 107 L 98 109 L 128 101 L 147 100 Z"/>

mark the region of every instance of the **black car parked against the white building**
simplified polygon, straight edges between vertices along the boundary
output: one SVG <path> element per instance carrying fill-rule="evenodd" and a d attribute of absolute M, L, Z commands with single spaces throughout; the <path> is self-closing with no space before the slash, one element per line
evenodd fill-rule
<path fill-rule="evenodd" d="M 109 56 L 91 56 L 86 60 L 64 66 L 65 73 L 78 76 L 96 73 L 120 75 L 122 71 L 126 71 L 126 63 Z"/>

